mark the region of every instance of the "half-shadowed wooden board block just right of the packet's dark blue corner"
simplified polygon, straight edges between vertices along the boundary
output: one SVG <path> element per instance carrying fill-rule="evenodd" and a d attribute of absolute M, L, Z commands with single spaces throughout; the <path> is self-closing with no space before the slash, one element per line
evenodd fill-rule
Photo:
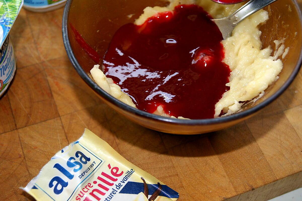
<path fill-rule="evenodd" d="M 186 199 L 224 200 L 236 194 L 207 137 L 172 147 L 169 155 L 188 193 Z"/>

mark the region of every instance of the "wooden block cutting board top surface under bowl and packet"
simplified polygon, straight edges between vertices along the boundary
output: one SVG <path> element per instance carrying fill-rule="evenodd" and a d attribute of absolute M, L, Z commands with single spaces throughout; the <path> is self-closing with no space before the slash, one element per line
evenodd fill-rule
<path fill-rule="evenodd" d="M 302 187 L 301 72 L 243 123 L 207 135 L 160 133 L 120 116 L 82 81 L 63 46 L 62 14 L 22 9 L 11 31 L 18 67 L 0 99 L 1 200 L 33 200 L 19 187 L 84 128 L 178 191 L 180 201 L 262 201 Z"/>

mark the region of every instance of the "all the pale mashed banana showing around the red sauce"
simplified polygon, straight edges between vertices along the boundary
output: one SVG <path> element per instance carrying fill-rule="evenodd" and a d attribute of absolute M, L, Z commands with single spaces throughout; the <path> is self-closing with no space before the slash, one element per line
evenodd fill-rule
<path fill-rule="evenodd" d="M 173 11 L 174 7 L 179 4 L 199 5 L 213 18 L 228 16 L 242 6 L 242 4 L 222 5 L 210 0 L 169 0 L 169 2 L 167 7 L 145 8 L 144 13 L 134 24 L 143 24 L 149 17 L 159 12 Z M 222 41 L 225 50 L 223 62 L 231 69 L 230 82 L 226 84 L 230 90 L 226 91 L 215 105 L 215 117 L 220 115 L 221 110 L 226 113 L 225 115 L 235 113 L 240 110 L 244 101 L 252 100 L 259 94 L 263 95 L 263 91 L 276 80 L 277 75 L 281 72 L 283 64 L 278 57 L 284 54 L 284 45 L 275 51 L 274 56 L 270 56 L 273 51 L 271 47 L 261 49 L 261 31 L 258 29 L 258 25 L 266 20 L 268 20 L 268 12 L 260 10 L 238 24 L 233 30 L 232 36 Z M 282 41 L 278 41 L 278 43 L 282 43 Z M 288 52 L 288 48 L 286 51 Z M 135 107 L 131 98 L 120 91 L 120 87 L 114 84 L 112 79 L 106 78 L 98 67 L 99 65 L 95 65 L 91 70 L 95 82 L 113 97 Z M 155 114 L 169 116 L 164 113 L 161 106 L 157 108 Z"/>

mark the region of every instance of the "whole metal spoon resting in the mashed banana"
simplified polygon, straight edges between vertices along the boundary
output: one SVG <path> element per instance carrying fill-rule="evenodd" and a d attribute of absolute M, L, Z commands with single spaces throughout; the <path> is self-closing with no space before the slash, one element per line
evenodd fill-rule
<path fill-rule="evenodd" d="M 228 17 L 212 19 L 218 26 L 223 39 L 230 37 L 233 29 L 249 15 L 259 11 L 277 0 L 251 0 Z"/>

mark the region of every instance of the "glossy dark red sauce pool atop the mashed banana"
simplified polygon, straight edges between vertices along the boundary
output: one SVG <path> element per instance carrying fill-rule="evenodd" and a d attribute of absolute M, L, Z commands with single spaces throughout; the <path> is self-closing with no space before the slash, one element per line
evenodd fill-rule
<path fill-rule="evenodd" d="M 144 24 L 126 24 L 104 56 L 104 73 L 140 110 L 190 119 L 213 118 L 227 91 L 222 34 L 196 5 L 179 5 Z"/>

